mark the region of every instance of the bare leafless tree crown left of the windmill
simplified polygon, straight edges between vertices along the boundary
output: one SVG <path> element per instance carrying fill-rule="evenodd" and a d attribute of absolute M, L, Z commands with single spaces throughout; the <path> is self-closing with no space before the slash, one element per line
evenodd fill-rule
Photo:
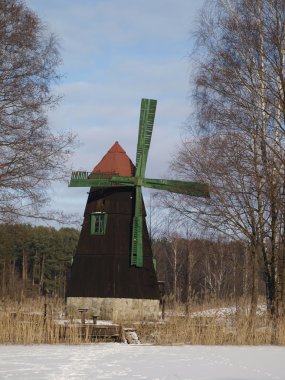
<path fill-rule="evenodd" d="M 51 181 L 65 177 L 74 137 L 55 134 L 47 111 L 58 98 L 59 47 L 21 0 L 0 2 L 0 221 L 40 212 Z"/>

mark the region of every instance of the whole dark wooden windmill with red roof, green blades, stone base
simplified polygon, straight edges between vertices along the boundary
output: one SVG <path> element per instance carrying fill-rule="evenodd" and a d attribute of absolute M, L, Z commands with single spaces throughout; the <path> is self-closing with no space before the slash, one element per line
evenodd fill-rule
<path fill-rule="evenodd" d="M 91 173 L 69 186 L 89 187 L 67 302 L 102 318 L 155 318 L 159 291 L 145 222 L 142 187 L 208 196 L 206 184 L 145 178 L 156 100 L 142 99 L 136 165 L 116 142 Z"/>

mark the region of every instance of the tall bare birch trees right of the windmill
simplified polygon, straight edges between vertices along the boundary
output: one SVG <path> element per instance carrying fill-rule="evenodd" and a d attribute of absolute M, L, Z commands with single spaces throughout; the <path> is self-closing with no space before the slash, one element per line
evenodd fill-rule
<path fill-rule="evenodd" d="M 283 0 L 208 2 L 197 33 L 198 133 L 182 143 L 173 169 L 209 183 L 211 199 L 168 198 L 200 225 L 247 241 L 252 316 L 259 259 L 268 309 L 284 309 L 284 25 Z"/>

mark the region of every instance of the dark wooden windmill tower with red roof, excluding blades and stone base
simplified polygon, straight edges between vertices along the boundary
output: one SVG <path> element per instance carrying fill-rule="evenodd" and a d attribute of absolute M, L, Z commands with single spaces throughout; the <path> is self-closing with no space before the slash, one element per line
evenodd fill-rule
<path fill-rule="evenodd" d="M 134 165 L 116 142 L 92 174 L 132 176 Z M 153 256 L 143 212 L 144 266 L 130 265 L 135 190 L 91 187 L 68 297 L 159 299 Z M 101 231 L 96 218 L 102 220 Z M 104 220 L 106 218 L 106 220 Z"/>

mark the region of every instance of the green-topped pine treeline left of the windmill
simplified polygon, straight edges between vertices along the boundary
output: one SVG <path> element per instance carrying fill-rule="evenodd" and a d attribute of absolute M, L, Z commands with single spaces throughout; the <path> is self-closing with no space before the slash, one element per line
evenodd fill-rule
<path fill-rule="evenodd" d="M 0 224 L 1 297 L 64 297 L 78 238 L 74 228 Z"/>

